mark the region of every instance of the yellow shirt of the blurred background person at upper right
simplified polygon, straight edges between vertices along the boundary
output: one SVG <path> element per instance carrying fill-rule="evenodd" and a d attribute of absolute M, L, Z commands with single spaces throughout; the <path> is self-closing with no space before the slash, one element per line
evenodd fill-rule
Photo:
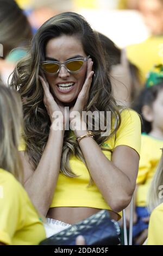
<path fill-rule="evenodd" d="M 151 36 L 140 44 L 127 46 L 128 59 L 140 70 L 140 80 L 145 83 L 148 72 L 155 64 L 162 64 L 163 35 Z"/>

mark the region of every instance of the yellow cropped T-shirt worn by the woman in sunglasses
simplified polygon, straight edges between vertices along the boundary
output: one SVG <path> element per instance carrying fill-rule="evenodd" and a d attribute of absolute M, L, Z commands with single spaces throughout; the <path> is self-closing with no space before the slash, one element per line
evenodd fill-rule
<path fill-rule="evenodd" d="M 139 115 L 135 111 L 124 109 L 121 112 L 121 118 L 122 122 L 116 135 L 112 136 L 102 144 L 102 148 L 110 150 L 102 150 L 109 160 L 111 160 L 112 151 L 120 145 L 126 145 L 133 148 L 138 154 L 140 153 L 141 123 Z M 20 150 L 24 149 L 24 145 L 20 145 Z M 90 175 L 85 164 L 77 159 L 76 156 L 71 156 L 70 167 L 72 168 L 72 171 L 79 176 L 69 178 L 62 173 L 59 174 L 51 208 L 72 206 L 111 210 L 110 206 L 106 204 L 96 184 L 87 187 Z"/>

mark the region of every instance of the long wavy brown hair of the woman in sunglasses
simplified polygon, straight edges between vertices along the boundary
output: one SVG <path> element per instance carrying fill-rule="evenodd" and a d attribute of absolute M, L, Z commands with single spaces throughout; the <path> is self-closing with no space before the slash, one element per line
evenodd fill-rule
<path fill-rule="evenodd" d="M 112 97 L 109 74 L 98 34 L 79 14 L 67 12 L 52 17 L 35 34 L 29 47 L 29 53 L 17 64 L 10 84 L 11 87 L 20 92 L 22 97 L 26 153 L 34 168 L 39 164 L 51 126 L 51 121 L 43 104 L 43 88 L 39 81 L 39 63 L 45 60 L 47 42 L 63 34 L 77 36 L 82 42 L 84 52 L 87 56 L 90 55 L 93 61 L 93 70 L 96 76 L 93 77 L 89 100 L 84 111 L 104 111 L 105 113 L 110 111 L 112 118 L 116 121 L 110 136 L 117 131 L 121 123 L 120 112 Z M 101 130 L 92 130 L 96 142 L 101 147 L 108 137 L 101 136 Z M 76 175 L 72 172 L 69 164 L 71 155 L 76 155 L 86 164 L 78 143 L 68 131 L 65 131 L 60 171 L 69 177 L 74 177 Z"/>

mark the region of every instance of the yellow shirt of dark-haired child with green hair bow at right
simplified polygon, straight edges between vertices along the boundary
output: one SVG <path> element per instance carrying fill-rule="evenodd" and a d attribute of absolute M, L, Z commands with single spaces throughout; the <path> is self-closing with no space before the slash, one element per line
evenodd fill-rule
<path fill-rule="evenodd" d="M 162 147 L 163 141 L 148 135 L 141 136 L 139 172 L 136 180 L 139 185 L 136 193 L 136 206 L 147 206 L 149 186 L 160 161 Z"/>

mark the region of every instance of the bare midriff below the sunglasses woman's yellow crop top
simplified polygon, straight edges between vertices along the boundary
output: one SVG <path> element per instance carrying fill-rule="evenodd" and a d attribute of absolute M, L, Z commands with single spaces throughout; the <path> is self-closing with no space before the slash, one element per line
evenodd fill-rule
<path fill-rule="evenodd" d="M 101 209 L 87 207 L 55 207 L 48 210 L 46 217 L 68 224 L 74 224 L 96 214 L 98 211 L 101 211 Z M 108 212 L 110 214 L 110 218 L 115 221 L 118 220 L 118 215 L 115 212 L 110 210 L 108 210 Z"/>

